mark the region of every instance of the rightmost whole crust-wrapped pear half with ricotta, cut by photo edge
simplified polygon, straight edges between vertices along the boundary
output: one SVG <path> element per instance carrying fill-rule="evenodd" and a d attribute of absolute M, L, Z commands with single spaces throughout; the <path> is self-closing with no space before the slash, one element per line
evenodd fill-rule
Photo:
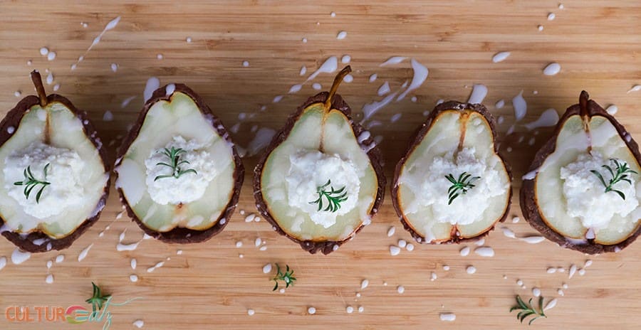
<path fill-rule="evenodd" d="M 523 176 L 523 215 L 564 248 L 620 251 L 641 233 L 640 164 L 625 127 L 583 91 Z"/>

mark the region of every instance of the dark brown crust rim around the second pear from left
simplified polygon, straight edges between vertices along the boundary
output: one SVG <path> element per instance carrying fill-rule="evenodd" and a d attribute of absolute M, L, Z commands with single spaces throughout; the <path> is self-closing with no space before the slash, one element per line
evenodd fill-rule
<path fill-rule="evenodd" d="M 236 151 L 236 145 L 231 142 L 231 138 L 229 137 L 229 133 L 227 133 L 227 130 L 225 129 L 224 125 L 222 124 L 222 121 L 214 115 L 211 109 L 205 104 L 204 100 L 202 100 L 202 97 L 196 94 L 191 88 L 187 87 L 187 85 L 184 84 L 174 84 L 176 86 L 174 92 L 182 92 L 185 95 L 189 96 L 194 100 L 196 105 L 198 106 L 200 112 L 202 115 L 204 115 L 207 118 L 210 118 L 212 121 L 212 127 L 218 132 L 220 137 L 224 139 L 226 142 L 231 144 L 231 151 L 234 154 L 234 164 L 235 164 L 235 169 L 234 169 L 234 191 L 231 193 L 231 198 L 229 199 L 229 203 L 227 203 L 225 207 L 225 211 L 219 216 L 219 218 L 216 220 L 216 223 L 212 225 L 212 227 L 207 228 L 205 230 L 194 230 L 194 229 L 189 229 L 189 228 L 181 228 L 181 227 L 176 227 L 170 231 L 167 231 L 165 233 L 158 232 L 156 230 L 153 230 L 145 223 L 142 223 L 142 220 L 140 220 L 137 215 L 134 213 L 133 209 L 127 202 L 127 198 L 125 198 L 125 194 L 123 193 L 122 188 L 118 188 L 118 196 L 120 196 L 120 203 L 123 203 L 123 206 L 127 210 L 127 215 L 134 221 L 140 229 L 142 229 L 147 235 L 150 235 L 152 238 L 156 238 L 157 240 L 161 240 L 165 243 L 179 243 L 179 244 L 187 244 L 187 243 L 200 243 L 204 242 L 206 240 L 209 240 L 210 238 L 214 237 L 214 235 L 217 235 L 220 233 L 227 223 L 229 223 L 229 220 L 231 219 L 231 215 L 234 213 L 234 210 L 236 210 L 236 206 L 238 206 L 238 200 L 240 196 L 240 191 L 241 191 L 241 186 L 243 185 L 244 177 L 245 177 L 245 169 L 243 166 L 243 162 L 238 154 L 238 151 Z M 129 147 L 131 146 L 132 142 L 136 139 L 138 134 L 140 133 L 140 128 L 142 127 L 143 122 L 145 122 L 145 117 L 147 116 L 147 112 L 151 109 L 152 105 L 154 105 L 156 102 L 160 100 L 165 100 L 169 101 L 171 95 L 165 95 L 166 94 L 166 88 L 167 85 L 162 86 L 155 90 L 152 94 L 152 97 L 145 102 L 145 106 L 142 107 L 142 110 L 140 111 L 140 115 L 138 115 L 138 119 L 136 119 L 136 122 L 130 132 L 127 134 L 127 137 L 123 140 L 123 144 L 120 145 L 120 148 L 118 148 L 118 155 L 116 156 L 116 163 L 114 165 L 117 167 L 120 165 L 120 163 L 123 160 L 123 156 L 127 153 L 127 150 L 129 150 Z M 173 93 L 172 93 L 173 95 Z M 118 172 L 114 171 L 115 178 L 118 179 Z M 224 221 L 222 221 L 224 219 Z"/>

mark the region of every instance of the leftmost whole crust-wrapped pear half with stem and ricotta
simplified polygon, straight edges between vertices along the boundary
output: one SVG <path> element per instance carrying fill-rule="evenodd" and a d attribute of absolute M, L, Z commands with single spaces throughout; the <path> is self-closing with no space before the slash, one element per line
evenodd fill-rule
<path fill-rule="evenodd" d="M 61 95 L 22 99 L 0 122 L 0 233 L 21 250 L 68 248 L 105 206 L 105 149 L 85 112 Z"/>

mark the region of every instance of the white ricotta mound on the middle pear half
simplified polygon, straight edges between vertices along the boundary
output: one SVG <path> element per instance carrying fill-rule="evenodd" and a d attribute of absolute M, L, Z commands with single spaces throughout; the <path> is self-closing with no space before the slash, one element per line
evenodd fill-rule
<path fill-rule="evenodd" d="M 307 213 L 313 223 L 329 228 L 336 223 L 339 215 L 357 207 L 360 180 L 353 161 L 318 150 L 298 151 L 291 154 L 289 160 L 290 167 L 286 175 L 289 206 Z M 332 193 L 332 189 L 340 193 Z M 332 205 L 328 196 L 342 196 L 340 199 L 343 201 L 338 203 L 338 208 L 327 209 Z"/>

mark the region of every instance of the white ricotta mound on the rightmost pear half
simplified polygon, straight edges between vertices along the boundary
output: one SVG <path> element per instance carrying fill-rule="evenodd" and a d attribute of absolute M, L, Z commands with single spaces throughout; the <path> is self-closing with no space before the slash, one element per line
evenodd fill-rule
<path fill-rule="evenodd" d="M 618 181 L 612 188 L 622 192 L 625 200 L 614 191 L 605 192 L 605 186 L 593 170 L 598 171 L 605 183 L 612 179 L 610 172 L 603 167 L 615 167 L 610 159 L 598 151 L 580 154 L 575 161 L 561 168 L 563 197 L 566 199 L 568 215 L 579 218 L 585 228 L 599 230 L 608 226 L 616 215 L 625 217 L 639 206 L 635 182 L 637 174 L 628 174 L 632 184 Z M 616 174 L 616 171 L 615 171 Z"/>

